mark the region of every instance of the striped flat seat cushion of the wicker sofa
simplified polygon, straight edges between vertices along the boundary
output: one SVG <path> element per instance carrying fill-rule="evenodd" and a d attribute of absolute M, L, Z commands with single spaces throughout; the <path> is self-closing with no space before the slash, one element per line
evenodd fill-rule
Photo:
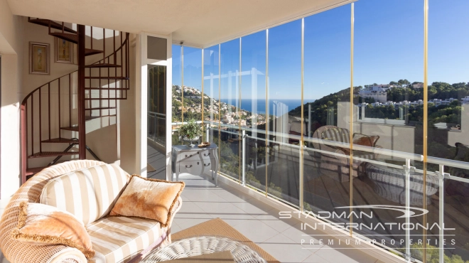
<path fill-rule="evenodd" d="M 95 257 L 93 263 L 128 262 L 141 250 L 146 249 L 166 235 L 167 228 L 159 222 L 142 218 L 102 218 L 87 225 Z"/>

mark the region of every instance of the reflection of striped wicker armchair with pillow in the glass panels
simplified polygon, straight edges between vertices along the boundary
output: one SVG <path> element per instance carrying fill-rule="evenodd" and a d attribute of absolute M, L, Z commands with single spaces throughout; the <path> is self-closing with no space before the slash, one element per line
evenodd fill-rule
<path fill-rule="evenodd" d="M 338 141 L 343 143 L 350 143 L 350 132 L 348 129 L 339 128 L 336 126 L 323 126 L 316 129 L 313 134 L 313 138 L 322 139 L 328 141 Z M 319 171 L 325 176 L 329 176 L 336 181 L 345 182 L 350 181 L 350 157 L 345 153 L 343 149 L 338 147 L 329 146 L 326 144 L 320 144 L 318 142 L 313 143 L 315 149 L 321 151 L 330 151 L 335 154 L 343 154 L 344 156 L 336 156 L 333 154 L 314 154 L 313 158 L 318 159 L 317 163 Z M 382 148 L 381 146 L 374 146 L 375 148 Z M 311 152 L 311 151 L 308 151 Z M 363 159 L 376 159 L 377 154 L 365 151 L 353 151 L 353 156 L 360 157 Z M 357 177 L 363 170 L 363 162 L 354 160 L 352 162 L 352 176 Z"/>

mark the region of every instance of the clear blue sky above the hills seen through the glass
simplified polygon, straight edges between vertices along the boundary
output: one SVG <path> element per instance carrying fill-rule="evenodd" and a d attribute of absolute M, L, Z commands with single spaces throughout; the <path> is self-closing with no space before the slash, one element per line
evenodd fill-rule
<path fill-rule="evenodd" d="M 449 3 L 448 3 L 449 2 Z M 355 2 L 354 85 L 422 81 L 424 1 Z M 428 81 L 469 82 L 469 1 L 429 0 Z M 265 73 L 266 31 L 242 38 L 242 71 Z M 350 86 L 350 4 L 305 18 L 305 98 Z M 212 61 L 208 51 L 212 50 Z M 239 39 L 222 43 L 222 74 L 239 70 Z M 206 49 L 205 75 L 217 75 L 218 48 Z M 201 50 L 184 48 L 184 84 L 200 89 Z M 210 64 L 210 65 L 209 65 Z M 228 87 L 229 80 L 222 80 Z M 173 83 L 180 84 L 180 47 L 173 45 Z M 232 86 L 234 87 L 232 79 Z M 205 89 L 209 82 L 205 82 Z M 242 97 L 265 97 L 265 75 L 242 77 Z M 225 90 L 224 90 L 225 91 Z M 233 91 L 232 91 L 233 92 Z M 222 98 L 228 97 L 228 90 Z M 301 95 L 301 20 L 269 29 L 269 98 Z"/>

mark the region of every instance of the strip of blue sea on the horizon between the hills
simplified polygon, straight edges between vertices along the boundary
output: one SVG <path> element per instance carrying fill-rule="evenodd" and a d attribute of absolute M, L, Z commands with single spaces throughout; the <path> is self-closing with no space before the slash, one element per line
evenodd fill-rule
<path fill-rule="evenodd" d="M 225 102 L 227 104 L 236 103 L 234 100 L 222 99 L 221 102 Z M 314 102 L 314 100 L 303 100 L 303 103 Z M 256 107 L 257 104 L 257 107 Z M 282 115 L 286 112 L 295 109 L 296 107 L 301 106 L 301 100 L 274 100 L 269 99 L 269 114 L 271 115 Z M 258 114 L 265 114 L 266 113 L 266 100 L 251 100 L 251 99 L 243 99 L 241 102 L 241 109 L 244 109 L 248 112 L 256 112 Z M 275 112 L 275 113 L 274 113 Z"/>

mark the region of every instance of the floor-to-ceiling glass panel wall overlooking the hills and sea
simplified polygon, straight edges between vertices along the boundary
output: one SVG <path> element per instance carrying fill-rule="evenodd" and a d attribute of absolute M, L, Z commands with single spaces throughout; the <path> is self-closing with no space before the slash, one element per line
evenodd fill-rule
<path fill-rule="evenodd" d="M 406 259 L 468 261 L 468 7 L 361 0 L 204 48 L 220 173 Z"/>

